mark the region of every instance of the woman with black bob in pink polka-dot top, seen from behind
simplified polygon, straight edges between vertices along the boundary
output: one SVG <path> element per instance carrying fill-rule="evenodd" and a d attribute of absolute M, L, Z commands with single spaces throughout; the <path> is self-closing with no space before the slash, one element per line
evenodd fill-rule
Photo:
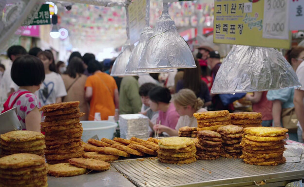
<path fill-rule="evenodd" d="M 11 77 L 19 90 L 9 96 L 4 110 L 17 107 L 22 129 L 40 132 L 41 104 L 34 93 L 45 78 L 43 63 L 32 55 L 18 57 L 12 65 Z"/>

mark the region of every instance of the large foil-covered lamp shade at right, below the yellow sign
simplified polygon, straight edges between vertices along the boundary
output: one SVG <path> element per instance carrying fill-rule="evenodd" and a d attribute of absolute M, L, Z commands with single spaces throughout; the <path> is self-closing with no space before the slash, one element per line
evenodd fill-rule
<path fill-rule="evenodd" d="M 211 93 L 244 93 L 299 87 L 301 83 L 274 48 L 234 45 L 218 70 Z"/>

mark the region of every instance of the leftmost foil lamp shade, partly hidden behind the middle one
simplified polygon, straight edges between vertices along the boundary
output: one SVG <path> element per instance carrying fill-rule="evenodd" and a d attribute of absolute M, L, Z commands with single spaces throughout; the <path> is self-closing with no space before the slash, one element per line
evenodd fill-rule
<path fill-rule="evenodd" d="M 126 66 L 129 61 L 130 55 L 132 53 L 132 50 L 134 48 L 134 45 L 130 43 L 128 40 L 125 45 L 122 47 L 122 52 L 118 55 L 116 58 L 112 71 L 111 76 L 115 77 L 122 77 L 122 76 L 129 76 L 129 75 L 136 75 L 136 74 L 125 74 Z"/>

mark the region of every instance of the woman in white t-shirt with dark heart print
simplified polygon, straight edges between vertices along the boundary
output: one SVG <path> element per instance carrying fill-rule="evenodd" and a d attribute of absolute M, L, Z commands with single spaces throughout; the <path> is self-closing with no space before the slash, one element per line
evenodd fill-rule
<path fill-rule="evenodd" d="M 41 51 L 37 57 L 42 61 L 45 71 L 45 80 L 36 93 L 42 106 L 62 102 L 66 96 L 66 89 L 61 76 L 56 71 L 56 65 L 51 52 Z"/>

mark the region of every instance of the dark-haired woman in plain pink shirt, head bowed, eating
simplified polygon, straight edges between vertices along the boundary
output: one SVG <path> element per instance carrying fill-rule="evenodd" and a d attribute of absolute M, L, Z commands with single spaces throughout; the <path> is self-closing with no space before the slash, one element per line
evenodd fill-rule
<path fill-rule="evenodd" d="M 158 112 L 156 124 L 161 124 L 175 129 L 179 115 L 175 106 L 171 103 L 171 93 L 168 88 L 156 86 L 149 91 L 149 105 L 153 112 Z M 158 130 L 158 125 L 154 126 L 154 130 Z M 160 131 L 161 132 L 161 131 Z"/>

